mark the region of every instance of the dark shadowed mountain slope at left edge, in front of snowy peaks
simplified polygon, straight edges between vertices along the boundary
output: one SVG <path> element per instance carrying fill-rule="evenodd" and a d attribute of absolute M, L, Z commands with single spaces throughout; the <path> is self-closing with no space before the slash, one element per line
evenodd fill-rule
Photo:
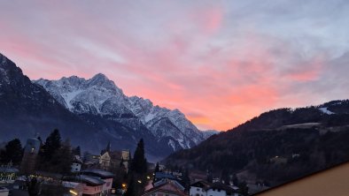
<path fill-rule="evenodd" d="M 0 54 L 0 143 L 19 138 L 22 141 L 36 133 L 42 138 L 53 129 L 73 145 L 89 142 L 86 150 L 97 149 L 97 134 L 73 113 L 59 104 L 43 87 L 33 84 L 10 59 Z"/>

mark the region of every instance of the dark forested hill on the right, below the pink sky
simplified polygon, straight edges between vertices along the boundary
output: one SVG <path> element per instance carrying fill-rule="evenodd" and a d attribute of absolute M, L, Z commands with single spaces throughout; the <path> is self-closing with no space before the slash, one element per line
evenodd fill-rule
<path fill-rule="evenodd" d="M 163 162 L 273 186 L 349 161 L 348 141 L 349 101 L 333 101 L 268 111 Z"/>

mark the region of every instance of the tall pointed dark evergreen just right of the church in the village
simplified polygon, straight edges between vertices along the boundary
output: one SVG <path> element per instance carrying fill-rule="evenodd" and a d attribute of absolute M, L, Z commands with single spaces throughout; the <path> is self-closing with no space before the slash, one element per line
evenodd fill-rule
<path fill-rule="evenodd" d="M 140 139 L 138 142 L 130 170 L 138 174 L 145 174 L 147 172 L 147 160 L 144 156 L 143 139 Z"/>

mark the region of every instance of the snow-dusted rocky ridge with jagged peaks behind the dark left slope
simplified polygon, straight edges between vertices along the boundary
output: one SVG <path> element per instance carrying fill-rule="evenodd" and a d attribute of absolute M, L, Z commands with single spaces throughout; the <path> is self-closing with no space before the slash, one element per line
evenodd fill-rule
<path fill-rule="evenodd" d="M 140 130 L 145 126 L 159 142 L 167 143 L 173 151 L 196 146 L 205 139 L 204 133 L 178 109 L 154 106 L 150 100 L 128 97 L 114 82 L 98 73 L 91 79 L 76 76 L 58 80 L 38 79 L 66 109 L 81 116 L 105 117 Z M 144 128 L 143 132 L 146 132 Z"/>

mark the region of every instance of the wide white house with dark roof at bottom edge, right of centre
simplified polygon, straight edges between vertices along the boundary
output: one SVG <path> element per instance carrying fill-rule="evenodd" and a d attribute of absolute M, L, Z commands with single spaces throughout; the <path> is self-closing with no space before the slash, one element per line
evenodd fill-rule
<path fill-rule="evenodd" d="M 198 181 L 190 185 L 190 196 L 240 196 L 236 188 L 221 183 Z"/>

